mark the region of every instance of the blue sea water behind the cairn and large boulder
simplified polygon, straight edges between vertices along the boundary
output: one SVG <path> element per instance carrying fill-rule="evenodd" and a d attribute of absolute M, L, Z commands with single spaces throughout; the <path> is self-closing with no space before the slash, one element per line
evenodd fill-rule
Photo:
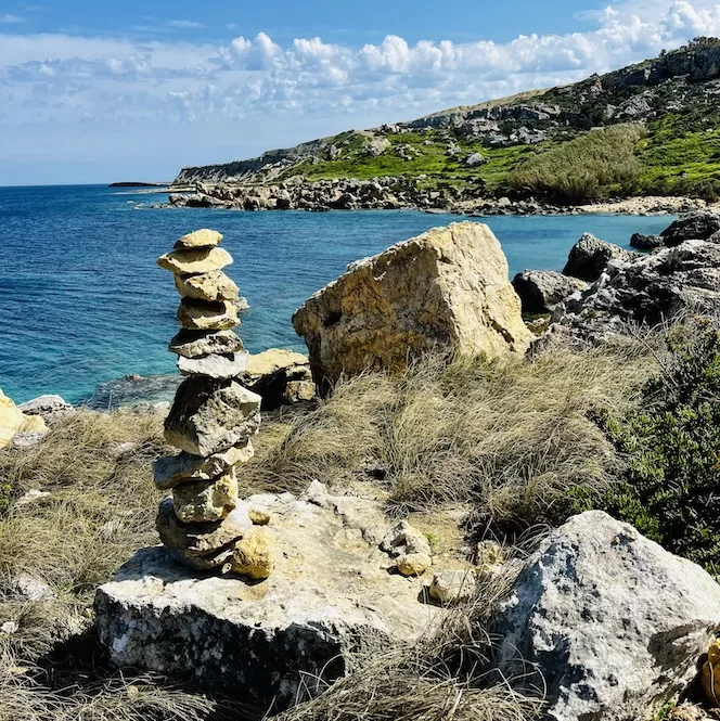
<path fill-rule="evenodd" d="M 131 373 L 175 373 L 171 275 L 155 265 L 184 233 L 214 228 L 227 271 L 252 309 L 240 333 L 252 352 L 304 349 L 295 309 L 351 260 L 461 220 L 415 211 L 243 213 L 154 209 L 167 196 L 103 185 L 0 188 L 0 387 L 16 402 L 60 394 L 77 402 Z M 589 231 L 627 246 L 668 217 L 493 217 L 511 274 L 562 269 Z"/>

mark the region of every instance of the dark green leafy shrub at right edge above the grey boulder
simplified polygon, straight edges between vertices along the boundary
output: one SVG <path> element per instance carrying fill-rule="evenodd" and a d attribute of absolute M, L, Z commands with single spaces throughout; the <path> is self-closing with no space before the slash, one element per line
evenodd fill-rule
<path fill-rule="evenodd" d="M 647 382 L 642 410 L 601 424 L 628 458 L 604 498 L 613 515 L 672 553 L 715 570 L 720 562 L 720 332 L 709 321 L 667 338 L 669 361 Z"/>

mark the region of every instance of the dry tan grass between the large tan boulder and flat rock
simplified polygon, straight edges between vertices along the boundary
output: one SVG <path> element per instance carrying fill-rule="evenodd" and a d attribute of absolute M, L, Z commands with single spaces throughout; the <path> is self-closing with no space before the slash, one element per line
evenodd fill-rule
<path fill-rule="evenodd" d="M 472 502 L 500 525 L 556 522 L 574 486 L 601 489 L 616 467 L 589 417 L 619 412 L 654 366 L 639 343 L 520 359 L 426 358 L 406 375 L 337 386 L 279 423 L 242 469 L 246 485 L 298 491 L 318 478 L 381 478 L 398 513 Z"/>

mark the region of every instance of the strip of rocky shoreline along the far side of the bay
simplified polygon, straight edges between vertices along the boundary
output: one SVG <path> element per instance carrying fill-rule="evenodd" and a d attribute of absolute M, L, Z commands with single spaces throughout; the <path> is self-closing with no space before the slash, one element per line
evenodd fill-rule
<path fill-rule="evenodd" d="M 588 205 L 562 206 L 538 199 L 478 197 L 466 188 L 429 189 L 423 179 L 383 177 L 370 180 L 301 178 L 278 184 L 196 183 L 170 188 L 167 204 L 155 207 L 222 208 L 231 210 L 424 210 L 465 216 L 502 215 L 679 215 L 707 207 L 699 198 L 646 196 L 617 198 Z"/>

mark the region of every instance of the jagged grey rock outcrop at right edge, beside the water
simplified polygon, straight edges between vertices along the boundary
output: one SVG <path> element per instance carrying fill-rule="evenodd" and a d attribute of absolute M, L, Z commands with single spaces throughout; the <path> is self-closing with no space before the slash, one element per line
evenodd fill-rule
<path fill-rule="evenodd" d="M 720 245 L 685 241 L 653 255 L 613 260 L 587 292 L 555 309 L 533 351 L 556 344 L 595 345 L 687 308 L 712 312 L 719 302 Z"/>

